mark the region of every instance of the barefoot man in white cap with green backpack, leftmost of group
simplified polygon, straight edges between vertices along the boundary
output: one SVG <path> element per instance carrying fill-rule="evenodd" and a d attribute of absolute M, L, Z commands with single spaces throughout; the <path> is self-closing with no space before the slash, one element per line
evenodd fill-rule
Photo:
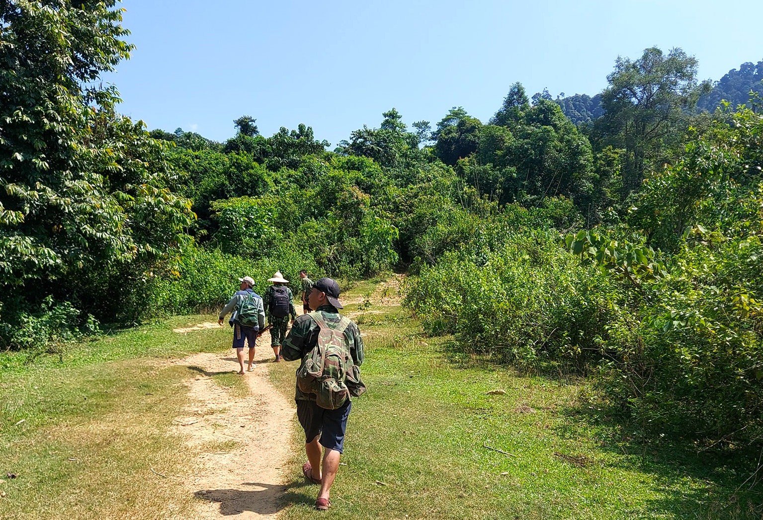
<path fill-rule="evenodd" d="M 265 309 L 262 306 L 262 298 L 256 294 L 252 287 L 254 280 L 245 276 L 239 278 L 241 282 L 240 290 L 227 303 L 220 316 L 217 317 L 217 324 L 222 326 L 223 319 L 227 313 L 230 315 L 229 323 L 233 326 L 233 348 L 236 349 L 236 357 L 239 361 L 239 375 L 243 375 L 243 344 L 249 345 L 249 364 L 248 371 L 253 371 L 254 348 L 257 342 L 258 332 L 265 328 Z"/>

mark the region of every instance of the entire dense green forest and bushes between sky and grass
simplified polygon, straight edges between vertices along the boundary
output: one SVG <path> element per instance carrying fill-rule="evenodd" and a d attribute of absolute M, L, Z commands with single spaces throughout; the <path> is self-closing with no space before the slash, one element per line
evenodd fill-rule
<path fill-rule="evenodd" d="M 391 108 L 327 151 L 245 115 L 217 143 L 118 113 L 115 4 L 0 3 L 0 347 L 214 308 L 243 274 L 399 269 L 462 352 L 591 377 L 649 435 L 759 442 L 761 63 L 713 88 L 652 47 L 594 98 L 517 82 L 485 122 Z"/>

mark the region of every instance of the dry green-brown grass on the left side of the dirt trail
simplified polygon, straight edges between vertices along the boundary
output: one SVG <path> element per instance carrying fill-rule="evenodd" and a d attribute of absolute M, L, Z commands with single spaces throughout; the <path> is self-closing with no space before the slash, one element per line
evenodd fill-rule
<path fill-rule="evenodd" d="M 227 329 L 172 332 L 204 319 L 211 316 L 87 342 L 69 349 L 63 364 L 57 356 L 28 364 L 24 355 L 0 355 L 0 478 L 18 475 L 0 483 L 0 518 L 192 515 L 182 482 L 195 453 L 171 425 L 196 374 L 167 360 L 227 345 Z"/>

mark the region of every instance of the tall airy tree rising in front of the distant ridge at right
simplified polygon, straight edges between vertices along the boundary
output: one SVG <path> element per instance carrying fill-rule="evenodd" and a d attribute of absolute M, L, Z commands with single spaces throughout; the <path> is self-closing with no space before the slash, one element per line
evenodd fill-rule
<path fill-rule="evenodd" d="M 623 188 L 633 191 L 647 165 L 667 159 L 688 127 L 689 110 L 709 85 L 697 82 L 697 59 L 679 48 L 657 47 L 639 59 L 618 57 L 601 95 L 604 133 L 625 149 Z"/>

